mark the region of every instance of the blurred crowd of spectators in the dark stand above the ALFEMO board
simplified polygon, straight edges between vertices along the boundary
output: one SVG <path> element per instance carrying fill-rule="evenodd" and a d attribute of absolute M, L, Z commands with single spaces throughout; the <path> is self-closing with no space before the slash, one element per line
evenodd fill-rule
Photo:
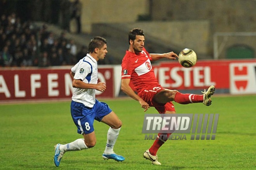
<path fill-rule="evenodd" d="M 65 32 L 54 35 L 46 24 L 22 23 L 15 13 L 0 17 L 0 67 L 74 65 L 87 53 L 85 46 L 78 52 L 73 39 Z"/>

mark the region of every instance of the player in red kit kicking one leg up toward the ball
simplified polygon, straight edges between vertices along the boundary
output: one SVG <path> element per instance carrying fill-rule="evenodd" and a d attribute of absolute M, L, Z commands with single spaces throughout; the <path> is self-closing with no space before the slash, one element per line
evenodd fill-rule
<path fill-rule="evenodd" d="M 141 29 L 135 28 L 129 32 L 129 49 L 122 61 L 122 81 L 121 90 L 131 98 L 137 100 L 144 112 L 149 107 L 155 107 L 161 114 L 175 114 L 175 108 L 171 101 L 179 104 L 203 103 L 211 105 L 211 95 L 213 95 L 215 87 L 212 85 L 208 90 L 204 90 L 202 95 L 183 94 L 177 90 L 170 90 L 161 87 L 156 80 L 154 70 L 150 61 L 161 58 L 176 59 L 178 55 L 169 52 L 163 54 L 149 54 L 144 48 L 145 35 Z M 133 84 L 137 94 L 129 86 Z M 154 165 L 161 165 L 156 155 L 157 150 L 165 143 L 166 139 L 161 139 L 160 132 L 153 145 L 143 154 L 144 158 L 151 161 Z M 168 136 L 171 133 L 168 134 Z"/>

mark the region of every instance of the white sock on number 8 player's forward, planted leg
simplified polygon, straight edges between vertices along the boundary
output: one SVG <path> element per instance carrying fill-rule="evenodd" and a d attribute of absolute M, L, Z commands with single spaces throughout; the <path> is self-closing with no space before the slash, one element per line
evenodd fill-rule
<path fill-rule="evenodd" d="M 118 138 L 120 129 L 121 128 L 119 129 L 109 128 L 109 130 L 107 131 L 107 144 L 106 144 L 104 154 L 111 155 L 112 153 L 114 153 L 113 148 L 116 143 L 116 139 Z"/>

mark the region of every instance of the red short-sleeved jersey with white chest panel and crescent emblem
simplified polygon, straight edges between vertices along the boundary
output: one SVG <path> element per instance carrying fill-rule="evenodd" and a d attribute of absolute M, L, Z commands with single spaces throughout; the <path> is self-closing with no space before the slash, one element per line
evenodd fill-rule
<path fill-rule="evenodd" d="M 161 86 L 156 80 L 150 60 L 152 58 L 145 48 L 138 55 L 127 50 L 123 58 L 122 79 L 130 78 L 137 92 L 145 87 Z"/>

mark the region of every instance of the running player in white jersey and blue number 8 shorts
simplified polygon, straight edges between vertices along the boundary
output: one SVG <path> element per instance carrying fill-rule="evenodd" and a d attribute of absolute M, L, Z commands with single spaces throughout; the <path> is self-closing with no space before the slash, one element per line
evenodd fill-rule
<path fill-rule="evenodd" d="M 118 116 L 104 102 L 95 99 L 95 92 L 104 92 L 106 84 L 98 83 L 97 61 L 104 59 L 107 53 L 107 41 L 102 37 L 94 37 L 88 46 L 88 54 L 82 58 L 73 68 L 73 87 L 75 88 L 71 101 L 71 116 L 77 126 L 77 132 L 83 135 L 82 139 L 76 139 L 65 145 L 55 145 L 54 163 L 59 167 L 61 158 L 67 151 L 79 151 L 95 146 L 96 136 L 93 121 L 97 120 L 110 126 L 107 132 L 107 144 L 102 155 L 104 159 L 123 161 L 123 156 L 117 155 L 113 147 L 118 138 L 122 122 Z"/>

